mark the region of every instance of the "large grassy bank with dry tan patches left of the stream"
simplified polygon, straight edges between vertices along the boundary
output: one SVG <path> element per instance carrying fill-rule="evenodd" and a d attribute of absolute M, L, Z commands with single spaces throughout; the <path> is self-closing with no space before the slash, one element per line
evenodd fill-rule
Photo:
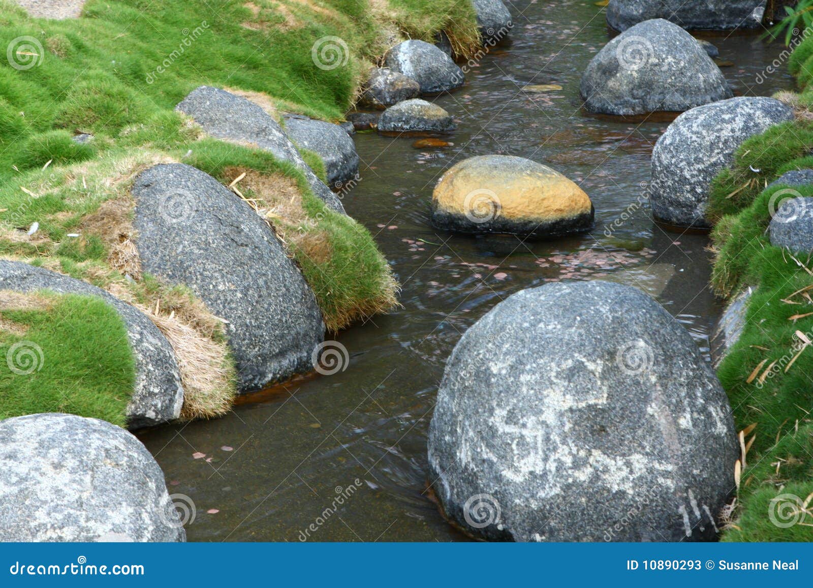
<path fill-rule="evenodd" d="M 133 177 L 182 161 L 231 185 L 285 242 L 328 329 L 387 311 L 397 284 L 366 229 L 328 210 L 293 166 L 206 137 L 174 108 L 192 89 L 214 85 L 277 117 L 341 120 L 359 76 L 389 46 L 407 37 L 431 41 L 440 31 L 459 54 L 475 50 L 470 3 L 89 0 L 83 18 L 51 21 L 0 0 L 0 46 L 11 48 L 0 61 L 0 255 L 84 279 L 141 308 L 179 355 L 184 416 L 223 414 L 234 372 L 222 324 L 188 291 L 141 272 Z M 76 142 L 79 133 L 93 138 Z M 315 154 L 303 156 L 324 176 Z M 5 328 L 8 312 L 4 337 L 14 333 Z M 117 335 L 107 336 L 112 346 Z M 76 357 L 59 360 L 66 373 L 82 367 L 73 369 Z M 102 417 L 121 423 L 113 414 L 120 408 Z M 12 413 L 0 404 L 0 414 Z"/>

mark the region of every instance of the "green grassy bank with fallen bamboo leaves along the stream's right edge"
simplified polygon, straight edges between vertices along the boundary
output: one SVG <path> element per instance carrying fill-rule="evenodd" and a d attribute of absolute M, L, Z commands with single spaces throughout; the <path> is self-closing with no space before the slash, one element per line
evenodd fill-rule
<path fill-rule="evenodd" d="M 806 41 L 793 71 L 811 54 Z M 808 76 L 799 79 L 800 94 L 777 96 L 797 120 L 750 138 L 711 188 L 714 290 L 725 298 L 753 290 L 746 325 L 718 369 L 746 452 L 725 541 L 813 539 L 813 255 L 772 246 L 767 234 L 783 200 L 813 196 L 813 185 L 768 186 L 813 168 L 813 90 Z"/>

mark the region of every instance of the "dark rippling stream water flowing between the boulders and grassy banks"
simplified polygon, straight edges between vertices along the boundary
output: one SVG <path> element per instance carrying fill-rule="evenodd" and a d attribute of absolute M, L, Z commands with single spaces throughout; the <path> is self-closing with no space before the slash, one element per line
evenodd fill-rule
<path fill-rule="evenodd" d="M 512 12 L 511 42 L 472 68 L 463 89 L 437 98 L 459 122 L 448 137 L 454 145 L 354 137 L 361 181 L 345 207 L 376 235 L 402 284 L 402 308 L 340 333 L 344 371 L 280 386 L 222 419 L 140 433 L 170 493 L 194 503 L 190 541 L 465 540 L 425 492 L 428 422 L 455 342 L 518 290 L 595 277 L 637 285 L 707 354 L 720 312 L 707 286 L 707 237 L 666 232 L 643 198 L 650 153 L 667 123 L 598 120 L 580 110 L 581 72 L 609 38 L 592 1 L 520 1 Z M 737 94 L 792 86 L 784 66 L 754 81 L 780 54 L 778 43 L 706 38 L 733 62 L 723 72 Z M 528 92 L 528 85 L 562 89 Z M 531 243 L 433 229 L 438 177 L 486 154 L 535 159 L 576 181 L 593 199 L 593 232 Z"/>

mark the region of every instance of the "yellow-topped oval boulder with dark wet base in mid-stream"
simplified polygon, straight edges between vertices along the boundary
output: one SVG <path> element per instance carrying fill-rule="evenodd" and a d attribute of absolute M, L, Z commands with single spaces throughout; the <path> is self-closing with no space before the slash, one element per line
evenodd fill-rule
<path fill-rule="evenodd" d="M 593 226 L 593 204 L 546 165 L 511 155 L 464 159 L 433 193 L 433 224 L 457 233 L 559 237 Z"/>

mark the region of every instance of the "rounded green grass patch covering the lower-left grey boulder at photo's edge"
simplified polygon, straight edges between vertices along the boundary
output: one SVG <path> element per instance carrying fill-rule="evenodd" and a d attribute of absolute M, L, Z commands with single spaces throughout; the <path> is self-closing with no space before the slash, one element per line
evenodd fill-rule
<path fill-rule="evenodd" d="M 135 364 L 119 314 L 93 296 L 25 298 L 0 311 L 0 419 L 69 412 L 125 426 Z"/>

